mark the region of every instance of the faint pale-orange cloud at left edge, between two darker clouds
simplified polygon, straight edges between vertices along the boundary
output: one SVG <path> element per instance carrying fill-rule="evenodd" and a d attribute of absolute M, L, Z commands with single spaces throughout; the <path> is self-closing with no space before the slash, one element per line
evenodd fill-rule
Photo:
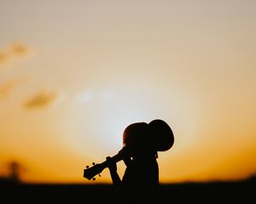
<path fill-rule="evenodd" d="M 8 97 L 15 88 L 20 87 L 20 85 L 28 82 L 29 80 L 29 77 L 20 77 L 0 83 L 0 99 Z"/>

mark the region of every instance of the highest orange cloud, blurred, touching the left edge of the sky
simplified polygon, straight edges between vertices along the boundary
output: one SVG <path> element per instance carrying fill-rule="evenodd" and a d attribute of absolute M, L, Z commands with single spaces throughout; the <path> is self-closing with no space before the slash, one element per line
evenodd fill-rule
<path fill-rule="evenodd" d="M 22 42 L 11 43 L 0 49 L 0 65 L 8 64 L 16 59 L 24 59 L 34 54 L 34 50 Z"/>

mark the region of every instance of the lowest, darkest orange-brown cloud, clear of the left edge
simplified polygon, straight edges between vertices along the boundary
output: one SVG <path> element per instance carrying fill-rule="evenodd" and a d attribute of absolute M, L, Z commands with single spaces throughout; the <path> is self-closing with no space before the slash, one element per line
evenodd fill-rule
<path fill-rule="evenodd" d="M 38 93 L 32 95 L 31 98 L 26 99 L 24 107 L 26 109 L 45 108 L 50 105 L 55 105 L 64 98 L 64 95 L 53 91 L 38 91 Z"/>

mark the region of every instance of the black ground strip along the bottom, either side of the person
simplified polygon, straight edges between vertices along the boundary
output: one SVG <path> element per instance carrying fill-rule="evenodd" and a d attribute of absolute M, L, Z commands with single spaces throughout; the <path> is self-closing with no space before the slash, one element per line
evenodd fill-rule
<path fill-rule="evenodd" d="M 108 184 L 5 184 L 0 203 L 121 203 Z M 256 203 L 255 178 L 241 182 L 160 185 L 161 204 Z"/>

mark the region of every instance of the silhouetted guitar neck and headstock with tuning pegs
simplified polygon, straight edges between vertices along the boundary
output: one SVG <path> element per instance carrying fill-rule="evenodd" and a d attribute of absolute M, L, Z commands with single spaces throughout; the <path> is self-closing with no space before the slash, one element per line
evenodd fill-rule
<path fill-rule="evenodd" d="M 123 159 L 123 156 L 121 156 L 120 154 L 117 154 L 115 156 L 110 157 L 108 160 L 103 161 L 102 163 L 99 164 L 95 164 L 94 162 L 92 163 L 93 167 L 89 167 L 86 166 L 86 168 L 84 168 L 84 178 L 87 179 L 91 179 L 95 180 L 96 178 L 94 178 L 97 174 L 99 174 L 99 176 L 101 176 L 100 173 L 102 173 L 102 171 L 108 167 L 110 164 L 117 163 L 118 161 L 121 161 Z"/>

